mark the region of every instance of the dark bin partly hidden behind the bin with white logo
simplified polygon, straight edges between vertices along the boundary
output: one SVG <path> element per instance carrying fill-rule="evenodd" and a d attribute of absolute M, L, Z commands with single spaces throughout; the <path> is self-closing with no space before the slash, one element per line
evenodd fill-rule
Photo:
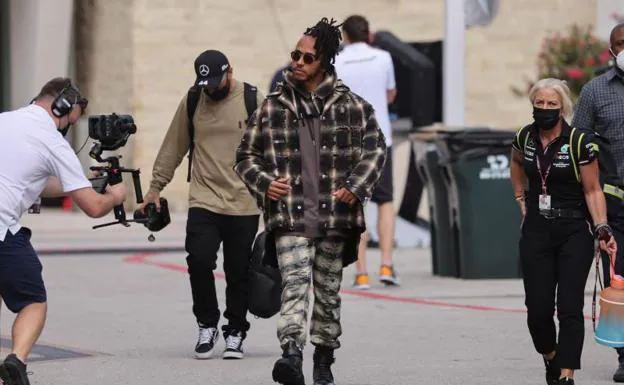
<path fill-rule="evenodd" d="M 416 167 L 427 190 L 433 275 L 457 277 L 458 259 L 453 254 L 448 190 L 435 143 L 428 144 L 421 152 Z"/>

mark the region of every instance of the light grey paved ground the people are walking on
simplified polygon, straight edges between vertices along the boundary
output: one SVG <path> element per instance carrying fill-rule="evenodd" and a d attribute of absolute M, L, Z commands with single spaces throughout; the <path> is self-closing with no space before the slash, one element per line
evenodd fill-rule
<path fill-rule="evenodd" d="M 243 361 L 192 358 L 197 331 L 181 248 L 183 214 L 174 214 L 155 242 L 147 241 L 149 232 L 140 225 L 90 229 L 106 220 L 46 210 L 23 222 L 42 252 L 50 304 L 29 366 L 33 385 L 273 383 L 271 368 L 280 354 L 276 318 L 250 319 Z M 119 252 L 102 251 L 113 248 Z M 378 251 L 370 250 L 371 271 L 378 261 Z M 520 280 L 433 277 L 428 249 L 400 249 L 396 265 L 403 281 L 398 288 L 373 282 L 367 292 L 353 291 L 353 268 L 345 272 L 343 347 L 334 370 L 339 385 L 544 383 Z M 217 276 L 224 303 L 220 267 Z M 588 316 L 592 284 L 593 275 Z M 6 308 L 1 315 L 3 357 L 13 315 Z M 304 352 L 308 384 L 312 350 L 308 345 Z M 610 384 L 615 365 L 614 352 L 594 342 L 587 321 L 577 383 Z"/>

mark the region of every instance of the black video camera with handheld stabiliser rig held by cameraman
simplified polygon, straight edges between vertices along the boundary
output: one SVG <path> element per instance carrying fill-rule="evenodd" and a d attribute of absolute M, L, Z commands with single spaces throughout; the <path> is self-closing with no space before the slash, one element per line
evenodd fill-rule
<path fill-rule="evenodd" d="M 124 172 L 132 174 L 134 182 L 134 192 L 138 204 L 143 203 L 143 192 L 141 191 L 140 170 L 121 167 L 119 159 L 121 155 L 109 156 L 102 158 L 103 151 L 115 151 L 126 145 L 130 135 L 136 133 L 136 125 L 134 119 L 130 115 L 92 115 L 89 116 L 89 137 L 96 140 L 93 147 L 89 151 L 89 156 L 99 163 L 108 163 L 107 166 L 91 166 L 92 171 L 98 171 L 102 175 L 91 178 L 93 188 L 104 193 L 107 185 L 115 185 L 122 182 Z M 156 211 L 156 205 L 149 203 L 145 207 L 145 213 L 140 211 L 134 212 L 134 219 L 126 219 L 126 210 L 123 204 L 114 208 L 114 222 L 104 223 L 93 226 L 94 229 L 121 224 L 130 226 L 130 222 L 142 223 L 150 231 L 159 231 L 171 222 L 169 216 L 169 206 L 165 198 L 160 198 L 160 211 Z M 154 240 L 153 235 L 148 238 Z"/>

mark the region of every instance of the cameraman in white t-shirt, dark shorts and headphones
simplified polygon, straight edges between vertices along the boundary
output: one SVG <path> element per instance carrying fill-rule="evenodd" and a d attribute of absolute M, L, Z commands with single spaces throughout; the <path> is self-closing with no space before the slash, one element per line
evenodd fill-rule
<path fill-rule="evenodd" d="M 42 265 L 21 216 L 39 197 L 69 195 L 93 218 L 125 200 L 123 183 L 96 192 L 63 138 L 87 104 L 71 79 L 54 78 L 30 105 L 0 113 L 0 299 L 17 314 L 11 354 L 0 364 L 4 384 L 29 384 L 26 359 L 47 313 Z"/>

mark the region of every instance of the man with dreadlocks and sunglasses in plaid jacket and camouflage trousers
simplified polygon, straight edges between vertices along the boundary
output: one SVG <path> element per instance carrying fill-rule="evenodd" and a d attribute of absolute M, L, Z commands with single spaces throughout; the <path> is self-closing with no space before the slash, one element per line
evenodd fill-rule
<path fill-rule="evenodd" d="M 303 385 L 310 281 L 315 385 L 333 385 L 340 347 L 342 270 L 357 259 L 370 199 L 386 158 L 373 107 L 336 78 L 340 25 L 323 18 L 291 52 L 284 81 L 250 119 L 236 153 L 238 174 L 264 212 L 282 277 L 273 380 Z"/>

